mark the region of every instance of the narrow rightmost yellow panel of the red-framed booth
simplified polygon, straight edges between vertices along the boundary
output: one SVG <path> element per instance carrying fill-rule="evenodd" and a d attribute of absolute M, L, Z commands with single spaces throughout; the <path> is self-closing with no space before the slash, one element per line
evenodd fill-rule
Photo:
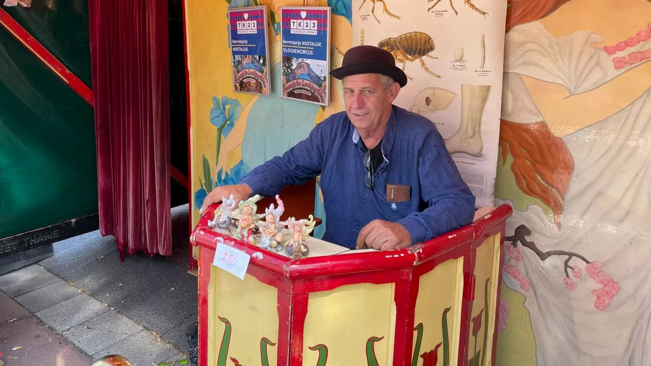
<path fill-rule="evenodd" d="M 486 239 L 477 248 L 475 259 L 475 301 L 470 324 L 468 359 L 470 366 L 490 365 L 493 330 L 495 329 L 495 302 L 499 268 L 500 234 Z M 475 355 L 473 358 L 473 354 Z"/>

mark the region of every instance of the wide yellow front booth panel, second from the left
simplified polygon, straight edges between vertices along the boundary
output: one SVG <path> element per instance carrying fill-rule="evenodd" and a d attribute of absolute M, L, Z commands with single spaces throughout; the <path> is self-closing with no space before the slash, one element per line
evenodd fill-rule
<path fill-rule="evenodd" d="M 367 365 L 367 345 L 379 365 L 393 364 L 396 307 L 393 283 L 342 286 L 309 295 L 303 365 L 316 365 L 325 345 L 328 365 Z M 381 338 L 381 339 L 380 339 Z"/>

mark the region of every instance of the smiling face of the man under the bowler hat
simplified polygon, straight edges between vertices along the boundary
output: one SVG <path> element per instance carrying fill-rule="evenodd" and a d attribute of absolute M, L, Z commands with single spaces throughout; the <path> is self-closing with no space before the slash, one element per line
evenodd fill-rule
<path fill-rule="evenodd" d="M 378 74 L 346 76 L 343 85 L 346 114 L 357 130 L 372 130 L 386 122 L 400 91 L 397 83 L 384 89 Z"/>

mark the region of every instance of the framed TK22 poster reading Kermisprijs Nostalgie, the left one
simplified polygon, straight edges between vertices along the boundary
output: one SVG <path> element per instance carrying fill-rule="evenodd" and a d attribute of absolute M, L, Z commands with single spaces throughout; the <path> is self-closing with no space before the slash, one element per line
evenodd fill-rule
<path fill-rule="evenodd" d="M 229 9 L 233 91 L 269 95 L 266 7 Z"/>

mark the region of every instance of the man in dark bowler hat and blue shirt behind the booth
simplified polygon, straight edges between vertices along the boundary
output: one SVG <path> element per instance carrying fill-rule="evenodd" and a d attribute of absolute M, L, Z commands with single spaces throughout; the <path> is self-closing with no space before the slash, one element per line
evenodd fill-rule
<path fill-rule="evenodd" d="M 407 77 L 389 51 L 353 47 L 331 76 L 341 79 L 346 111 L 307 139 L 244 176 L 215 188 L 222 196 L 272 196 L 321 175 L 324 240 L 351 249 L 402 249 L 471 223 L 475 197 L 430 120 L 393 106 Z"/>

